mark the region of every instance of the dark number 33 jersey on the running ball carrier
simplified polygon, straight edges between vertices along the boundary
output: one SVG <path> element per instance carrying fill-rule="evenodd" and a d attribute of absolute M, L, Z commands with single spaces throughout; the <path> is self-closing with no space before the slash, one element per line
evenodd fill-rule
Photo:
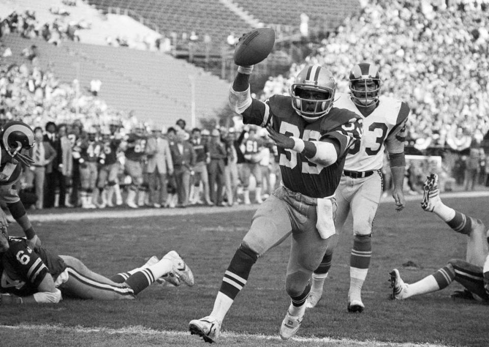
<path fill-rule="evenodd" d="M 261 127 L 271 125 L 281 134 L 305 141 L 331 141 L 339 148 L 336 163 L 322 166 L 304 155 L 277 148 L 283 184 L 311 197 L 332 196 L 340 182 L 348 148 L 362 136 L 360 116 L 346 109 L 332 108 L 314 122 L 307 122 L 292 108 L 290 96 L 274 95 L 266 104 L 253 100 L 243 113 L 243 122 Z"/>

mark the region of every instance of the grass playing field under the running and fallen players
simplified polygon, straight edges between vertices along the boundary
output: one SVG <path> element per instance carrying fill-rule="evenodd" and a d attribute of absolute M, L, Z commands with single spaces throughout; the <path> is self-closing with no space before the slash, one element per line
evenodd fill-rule
<path fill-rule="evenodd" d="M 489 197 L 444 199 L 450 206 L 489 225 Z M 175 210 L 177 211 L 177 210 Z M 211 213 L 197 213 L 207 211 Z M 121 210 L 114 210 L 113 216 Z M 137 300 L 65 300 L 58 305 L 2 306 L 0 345 L 134 346 L 204 345 L 187 333 L 188 321 L 210 313 L 224 271 L 250 225 L 253 209 L 178 210 L 178 215 L 35 221 L 43 245 L 73 255 L 111 276 L 144 263 L 151 255 L 175 249 L 194 271 L 194 287 L 153 285 Z M 170 212 L 168 213 L 170 214 Z M 87 214 L 89 216 L 90 214 Z M 33 219 L 34 216 L 33 216 Z M 53 219 L 53 218 L 46 218 Z M 42 220 L 42 218 L 38 218 Z M 350 229 L 351 220 L 347 221 Z M 11 234 L 20 234 L 14 226 Z M 318 307 L 306 312 L 298 337 L 282 342 L 278 329 L 289 304 L 284 291 L 290 242 L 269 251 L 254 266 L 223 325 L 220 345 L 237 346 L 488 346 L 489 305 L 454 301 L 461 286 L 398 302 L 388 299 L 388 272 L 399 268 L 406 282 L 416 281 L 451 258 L 464 258 L 464 235 L 451 231 L 419 201 L 400 213 L 381 204 L 374 224 L 373 258 L 361 314 L 346 311 L 352 237 L 341 236 L 334 264 Z M 412 261 L 418 267 L 403 268 Z"/>

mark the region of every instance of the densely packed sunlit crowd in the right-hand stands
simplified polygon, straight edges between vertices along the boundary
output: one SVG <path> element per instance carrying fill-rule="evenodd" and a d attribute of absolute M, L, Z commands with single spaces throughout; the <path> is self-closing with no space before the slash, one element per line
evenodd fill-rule
<path fill-rule="evenodd" d="M 489 130 L 488 27 L 486 1 L 374 0 L 347 18 L 305 63 L 328 66 L 340 91 L 348 90 L 354 64 L 375 63 L 382 94 L 411 107 L 410 140 L 421 149 L 461 150 Z M 267 81 L 263 99 L 287 93 L 302 68 L 292 65 L 289 76 Z"/>

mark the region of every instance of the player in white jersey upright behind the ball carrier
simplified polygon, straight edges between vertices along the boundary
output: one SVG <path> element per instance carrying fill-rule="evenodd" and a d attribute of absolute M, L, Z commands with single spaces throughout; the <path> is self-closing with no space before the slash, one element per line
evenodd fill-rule
<path fill-rule="evenodd" d="M 349 75 L 350 93 L 337 93 L 335 107 L 354 111 L 363 118 L 363 137 L 351 147 L 346 156 L 341 181 L 335 197 L 338 210 L 335 219 L 341 230 L 351 210 L 354 241 L 350 256 L 350 288 L 348 312 L 362 312 L 365 308 L 361 291 L 367 277 L 372 256 L 372 224 L 382 195 L 384 150 L 387 149 L 392 172 L 392 196 L 396 210 L 404 208 L 402 193 L 405 158 L 404 139 L 409 107 L 394 98 L 380 96 L 381 80 L 376 66 L 369 63 L 355 65 Z M 338 97 L 339 96 L 339 97 Z M 331 267 L 333 249 L 329 249 L 314 271 L 308 308 L 321 299 L 324 280 Z"/>

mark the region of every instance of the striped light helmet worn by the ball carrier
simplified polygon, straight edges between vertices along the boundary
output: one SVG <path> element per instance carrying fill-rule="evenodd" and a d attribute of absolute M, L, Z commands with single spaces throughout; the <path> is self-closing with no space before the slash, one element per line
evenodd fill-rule
<path fill-rule="evenodd" d="M 302 91 L 309 90 L 324 94 L 323 98 L 304 98 Z M 313 122 L 333 107 L 336 93 L 336 81 L 330 71 L 321 65 L 308 65 L 295 77 L 290 86 L 292 107 L 306 121 Z"/>

